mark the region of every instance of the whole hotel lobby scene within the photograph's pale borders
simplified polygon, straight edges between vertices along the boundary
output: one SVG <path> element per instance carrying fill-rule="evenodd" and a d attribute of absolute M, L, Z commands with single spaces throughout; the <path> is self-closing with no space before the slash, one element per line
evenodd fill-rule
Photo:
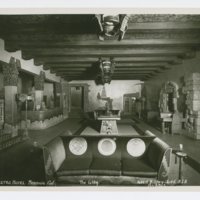
<path fill-rule="evenodd" d="M 200 186 L 200 15 L 0 27 L 0 186 Z"/>

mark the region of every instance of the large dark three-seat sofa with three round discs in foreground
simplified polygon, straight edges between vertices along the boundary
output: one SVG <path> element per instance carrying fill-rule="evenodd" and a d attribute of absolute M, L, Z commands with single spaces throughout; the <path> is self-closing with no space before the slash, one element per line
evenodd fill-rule
<path fill-rule="evenodd" d="M 171 148 L 148 132 L 139 136 L 60 136 L 43 147 L 46 183 L 148 185 L 166 181 Z"/>

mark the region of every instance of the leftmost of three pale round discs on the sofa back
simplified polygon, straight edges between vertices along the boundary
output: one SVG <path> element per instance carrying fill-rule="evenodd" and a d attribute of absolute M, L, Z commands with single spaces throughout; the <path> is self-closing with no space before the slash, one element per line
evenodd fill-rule
<path fill-rule="evenodd" d="M 80 156 L 87 151 L 87 141 L 82 137 L 75 137 L 69 142 L 69 150 L 72 154 Z"/>

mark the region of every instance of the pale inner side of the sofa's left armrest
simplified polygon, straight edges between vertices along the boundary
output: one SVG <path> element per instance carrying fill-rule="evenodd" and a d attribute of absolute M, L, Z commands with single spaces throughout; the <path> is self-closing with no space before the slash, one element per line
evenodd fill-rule
<path fill-rule="evenodd" d="M 53 162 L 54 170 L 57 171 L 66 158 L 63 141 L 57 137 L 46 145 Z"/>

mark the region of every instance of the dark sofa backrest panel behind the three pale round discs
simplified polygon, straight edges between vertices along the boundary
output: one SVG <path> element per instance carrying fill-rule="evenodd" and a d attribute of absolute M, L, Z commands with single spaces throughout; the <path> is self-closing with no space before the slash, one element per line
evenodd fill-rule
<path fill-rule="evenodd" d="M 83 153 L 82 155 L 74 155 L 71 151 L 70 151 L 70 141 L 72 141 L 74 138 L 77 139 L 85 139 L 85 141 L 87 142 L 87 150 L 85 148 L 85 153 Z M 145 155 L 147 154 L 147 149 L 149 144 L 152 142 L 152 140 L 155 137 L 149 137 L 149 136 L 118 136 L 118 135 L 95 135 L 95 136 L 63 136 L 63 142 L 64 142 L 64 146 L 65 146 L 65 150 L 66 150 L 66 159 L 80 159 L 80 158 L 92 158 L 92 159 L 126 159 L 126 158 L 135 158 L 134 156 L 131 156 L 128 151 L 127 151 L 127 146 L 130 149 L 130 146 L 134 146 L 132 143 L 132 140 L 136 140 L 136 143 L 138 143 L 138 145 L 140 143 L 144 143 L 145 144 L 145 151 L 144 153 L 142 153 L 141 156 L 137 157 L 137 158 L 141 158 L 141 157 L 145 157 Z M 132 142 L 131 142 L 132 141 Z M 128 144 L 131 145 L 128 145 Z M 83 142 L 83 144 L 85 145 L 85 142 Z M 83 147 L 84 145 L 81 145 L 81 147 Z M 136 145 L 137 146 L 137 145 Z M 140 145 L 139 145 L 140 146 Z M 77 148 L 79 147 L 79 145 L 77 144 Z M 131 147 L 132 148 L 132 147 Z M 78 148 L 79 149 L 79 148 Z M 112 152 L 113 151 L 113 152 Z M 135 147 L 135 151 L 132 150 L 132 154 L 137 154 L 138 150 Z"/>

